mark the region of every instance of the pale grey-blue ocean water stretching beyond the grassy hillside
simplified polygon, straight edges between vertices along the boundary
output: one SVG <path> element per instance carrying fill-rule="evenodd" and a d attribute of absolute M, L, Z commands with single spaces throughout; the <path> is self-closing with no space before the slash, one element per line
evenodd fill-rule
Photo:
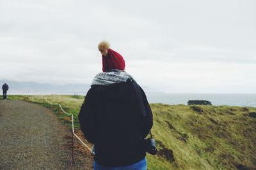
<path fill-rule="evenodd" d="M 74 92 L 10 92 L 9 94 L 20 95 L 74 95 Z M 76 92 L 77 95 L 85 96 L 86 92 Z M 166 94 L 147 93 L 148 103 L 164 104 L 188 104 L 189 100 L 207 100 L 215 106 L 252 106 L 256 107 L 256 94 Z"/>

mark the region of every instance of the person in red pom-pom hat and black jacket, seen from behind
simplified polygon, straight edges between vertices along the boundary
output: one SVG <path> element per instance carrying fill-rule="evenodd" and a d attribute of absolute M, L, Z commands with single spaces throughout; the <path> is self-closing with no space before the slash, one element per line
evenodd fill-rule
<path fill-rule="evenodd" d="M 81 130 L 94 144 L 94 169 L 146 170 L 145 138 L 153 125 L 145 93 L 124 71 L 125 61 L 99 44 L 102 71 L 95 76 L 79 113 Z"/>

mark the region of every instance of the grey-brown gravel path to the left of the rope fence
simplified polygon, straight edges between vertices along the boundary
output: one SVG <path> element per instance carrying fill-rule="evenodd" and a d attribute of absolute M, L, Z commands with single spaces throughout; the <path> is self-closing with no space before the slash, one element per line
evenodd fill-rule
<path fill-rule="evenodd" d="M 70 133 L 48 108 L 1 100 L 0 169 L 92 169 L 82 152 L 71 165 Z"/>

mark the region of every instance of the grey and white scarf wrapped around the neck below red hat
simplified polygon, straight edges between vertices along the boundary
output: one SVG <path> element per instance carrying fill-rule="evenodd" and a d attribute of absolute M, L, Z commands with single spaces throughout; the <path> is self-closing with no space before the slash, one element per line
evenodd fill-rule
<path fill-rule="evenodd" d="M 132 76 L 119 69 L 111 69 L 107 72 L 98 73 L 92 80 L 92 85 L 112 85 L 134 81 Z"/>

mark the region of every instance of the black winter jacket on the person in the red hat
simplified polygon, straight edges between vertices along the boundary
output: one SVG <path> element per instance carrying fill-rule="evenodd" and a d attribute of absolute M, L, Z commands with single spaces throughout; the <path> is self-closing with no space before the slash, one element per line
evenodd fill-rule
<path fill-rule="evenodd" d="M 145 158 L 142 141 L 152 128 L 153 117 L 147 97 L 136 82 L 93 85 L 84 99 L 79 121 L 85 138 L 95 145 L 97 164 L 126 166 Z"/>

